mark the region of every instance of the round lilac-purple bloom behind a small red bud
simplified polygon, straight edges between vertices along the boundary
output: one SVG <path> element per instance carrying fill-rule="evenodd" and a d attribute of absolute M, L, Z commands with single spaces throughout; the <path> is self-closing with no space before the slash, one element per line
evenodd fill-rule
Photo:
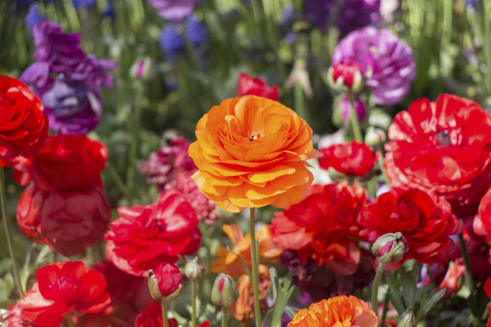
<path fill-rule="evenodd" d="M 377 104 L 396 104 L 409 93 L 416 77 L 411 48 L 387 29 L 365 27 L 351 32 L 339 42 L 332 66 L 355 62 L 372 90 Z"/>

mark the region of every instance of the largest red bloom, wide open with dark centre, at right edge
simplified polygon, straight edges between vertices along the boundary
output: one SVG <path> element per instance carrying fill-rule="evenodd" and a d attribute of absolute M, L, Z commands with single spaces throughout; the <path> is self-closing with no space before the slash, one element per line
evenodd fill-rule
<path fill-rule="evenodd" d="M 435 190 L 458 217 L 474 215 L 490 188 L 491 118 L 448 94 L 420 99 L 394 118 L 384 166 L 393 187 Z"/>

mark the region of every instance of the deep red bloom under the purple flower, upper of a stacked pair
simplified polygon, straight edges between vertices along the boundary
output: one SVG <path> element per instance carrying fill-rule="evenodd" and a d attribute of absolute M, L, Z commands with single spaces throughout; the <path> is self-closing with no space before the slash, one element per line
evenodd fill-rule
<path fill-rule="evenodd" d="M 84 135 L 49 136 L 46 146 L 15 166 L 14 177 L 26 185 L 31 179 L 43 191 L 102 188 L 101 171 L 108 149 Z"/>

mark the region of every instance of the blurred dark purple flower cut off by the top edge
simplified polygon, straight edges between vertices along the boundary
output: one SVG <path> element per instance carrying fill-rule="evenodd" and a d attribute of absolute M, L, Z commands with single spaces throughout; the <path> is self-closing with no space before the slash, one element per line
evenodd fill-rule
<path fill-rule="evenodd" d="M 339 15 L 333 17 L 337 3 L 338 0 L 306 0 L 305 15 L 320 29 L 330 24 L 331 19 L 336 19 L 335 24 L 343 33 L 367 25 L 375 25 L 380 19 L 380 0 L 345 0 Z"/>

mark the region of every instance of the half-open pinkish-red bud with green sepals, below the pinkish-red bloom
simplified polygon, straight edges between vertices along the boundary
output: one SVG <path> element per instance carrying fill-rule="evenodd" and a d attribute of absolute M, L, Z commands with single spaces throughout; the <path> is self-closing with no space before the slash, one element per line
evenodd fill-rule
<path fill-rule="evenodd" d="M 154 300 L 164 298 L 172 302 L 184 292 L 184 280 L 181 271 L 172 263 L 161 263 L 148 271 L 148 288 Z"/>

